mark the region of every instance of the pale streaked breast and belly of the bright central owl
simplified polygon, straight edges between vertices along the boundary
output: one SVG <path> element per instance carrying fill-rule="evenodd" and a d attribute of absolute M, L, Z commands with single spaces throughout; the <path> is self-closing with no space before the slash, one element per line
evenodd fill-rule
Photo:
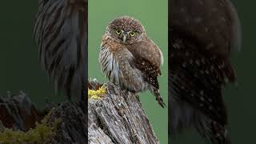
<path fill-rule="evenodd" d="M 110 38 L 104 39 L 99 53 L 99 62 L 102 72 L 111 82 L 120 86 L 123 90 L 141 92 L 147 90 L 149 85 L 144 81 L 140 70 L 132 63 L 133 54 L 125 47 L 119 50 L 111 50 Z M 121 46 L 121 45 L 120 45 Z"/>

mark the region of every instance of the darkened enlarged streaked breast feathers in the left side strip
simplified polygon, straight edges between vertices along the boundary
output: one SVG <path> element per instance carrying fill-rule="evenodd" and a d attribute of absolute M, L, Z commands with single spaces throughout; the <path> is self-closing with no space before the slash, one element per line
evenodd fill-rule
<path fill-rule="evenodd" d="M 87 0 L 39 0 L 34 38 L 42 68 L 69 98 L 82 96 L 85 87 L 86 13 Z"/>

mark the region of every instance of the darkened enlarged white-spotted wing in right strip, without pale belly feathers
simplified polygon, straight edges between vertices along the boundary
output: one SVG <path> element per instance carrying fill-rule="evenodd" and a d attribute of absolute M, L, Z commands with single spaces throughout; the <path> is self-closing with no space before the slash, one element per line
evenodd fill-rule
<path fill-rule="evenodd" d="M 234 42 L 241 41 L 238 16 L 230 1 L 179 0 L 171 1 L 170 6 L 170 70 L 177 87 L 171 88 L 191 106 L 226 124 L 221 90 L 226 82 L 235 81 L 230 48 L 240 45 Z M 182 88 L 197 93 L 197 97 Z"/>

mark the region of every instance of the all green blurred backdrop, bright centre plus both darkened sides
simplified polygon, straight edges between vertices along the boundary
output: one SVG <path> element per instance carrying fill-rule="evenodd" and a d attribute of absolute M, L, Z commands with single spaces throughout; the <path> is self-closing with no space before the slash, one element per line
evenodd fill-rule
<path fill-rule="evenodd" d="M 129 2 L 129 3 L 128 3 Z M 160 2 L 160 3 L 159 3 Z M 242 50 L 232 54 L 238 86 L 227 86 L 224 97 L 229 112 L 229 133 L 233 144 L 256 143 L 255 96 L 255 34 L 256 1 L 233 0 L 242 22 Z M 109 4 L 111 3 L 111 4 Z M 106 8 L 104 8 L 106 7 Z M 167 3 L 149 0 L 90 0 L 89 5 L 89 76 L 106 82 L 98 66 L 98 50 L 102 34 L 113 18 L 124 14 L 138 18 L 147 34 L 164 52 L 165 64 L 160 78 L 161 93 L 167 102 Z M 0 96 L 6 90 L 23 90 L 38 106 L 45 105 L 45 97 L 54 102 L 65 101 L 54 94 L 46 73 L 38 62 L 38 46 L 33 41 L 34 15 L 38 1 L 2 1 L 0 5 Z M 140 94 L 146 114 L 154 126 L 160 142 L 167 143 L 167 110 L 162 110 L 150 93 Z M 194 131 L 177 138 L 175 144 L 204 144 Z"/>

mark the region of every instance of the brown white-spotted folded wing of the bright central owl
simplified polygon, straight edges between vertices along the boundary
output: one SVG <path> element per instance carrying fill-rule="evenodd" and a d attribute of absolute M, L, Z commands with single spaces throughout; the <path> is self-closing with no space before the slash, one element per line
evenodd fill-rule
<path fill-rule="evenodd" d="M 150 39 L 127 46 L 133 54 L 132 63 L 142 71 L 143 78 L 152 86 L 159 89 L 158 76 L 161 75 L 162 52 Z"/>

